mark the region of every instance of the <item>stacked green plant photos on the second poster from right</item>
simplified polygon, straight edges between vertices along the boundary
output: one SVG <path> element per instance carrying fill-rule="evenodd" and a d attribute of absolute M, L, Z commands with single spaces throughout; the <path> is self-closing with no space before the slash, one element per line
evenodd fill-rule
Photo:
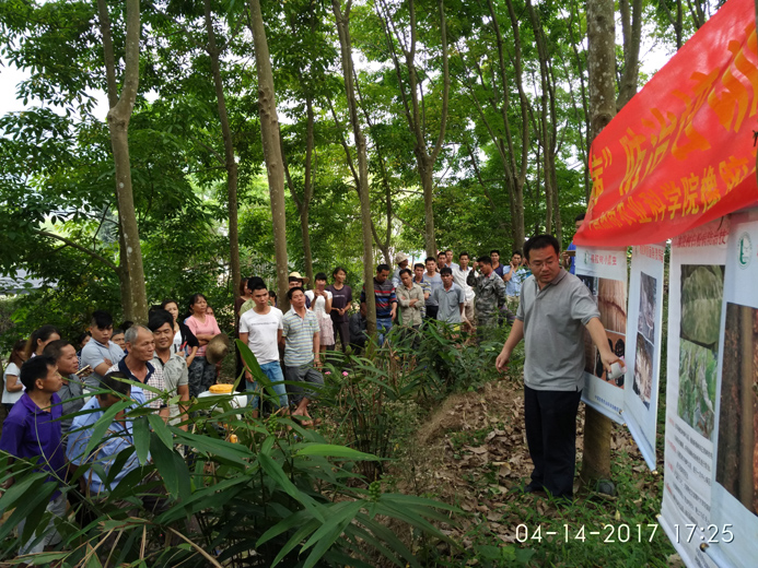
<path fill-rule="evenodd" d="M 681 265 L 677 414 L 705 438 L 713 434 L 724 267 Z"/>

